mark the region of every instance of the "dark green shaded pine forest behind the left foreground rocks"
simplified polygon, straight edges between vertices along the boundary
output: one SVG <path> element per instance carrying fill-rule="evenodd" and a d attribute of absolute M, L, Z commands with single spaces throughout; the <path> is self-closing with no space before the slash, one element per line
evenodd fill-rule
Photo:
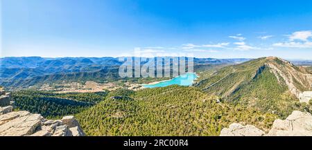
<path fill-rule="evenodd" d="M 17 91 L 12 93 L 17 110 L 40 113 L 46 118 L 74 115 L 105 99 L 107 93 L 53 93 L 46 91 Z"/>

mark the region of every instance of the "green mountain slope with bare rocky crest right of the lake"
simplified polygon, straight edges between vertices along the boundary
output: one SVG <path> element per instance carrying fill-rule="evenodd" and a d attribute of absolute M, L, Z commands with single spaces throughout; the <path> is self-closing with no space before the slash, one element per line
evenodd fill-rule
<path fill-rule="evenodd" d="M 312 90 L 311 84 L 312 74 L 305 68 L 263 57 L 202 75 L 196 86 L 227 102 L 286 116 L 299 102 L 299 93 Z"/>

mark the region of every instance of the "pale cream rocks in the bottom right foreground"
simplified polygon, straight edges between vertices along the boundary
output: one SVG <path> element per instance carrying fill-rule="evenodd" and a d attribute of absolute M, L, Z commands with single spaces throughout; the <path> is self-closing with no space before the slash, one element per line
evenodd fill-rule
<path fill-rule="evenodd" d="M 286 120 L 275 120 L 272 129 L 265 134 L 255 126 L 233 123 L 222 129 L 220 136 L 312 136 L 312 115 L 293 111 Z"/>

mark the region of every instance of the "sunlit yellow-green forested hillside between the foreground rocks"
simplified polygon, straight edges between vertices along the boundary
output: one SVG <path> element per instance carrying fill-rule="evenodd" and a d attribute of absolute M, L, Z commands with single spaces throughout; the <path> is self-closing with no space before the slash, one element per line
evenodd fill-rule
<path fill-rule="evenodd" d="M 121 95 L 131 99 L 112 98 Z M 277 116 L 218 103 L 197 88 L 168 86 L 111 93 L 76 117 L 87 135 L 218 135 L 231 122 L 268 129 Z"/>

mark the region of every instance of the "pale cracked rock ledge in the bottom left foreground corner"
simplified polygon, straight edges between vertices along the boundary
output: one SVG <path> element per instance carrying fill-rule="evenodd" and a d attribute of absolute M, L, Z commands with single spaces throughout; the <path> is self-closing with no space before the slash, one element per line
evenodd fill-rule
<path fill-rule="evenodd" d="M 1 94 L 6 95 L 4 92 Z M 10 95 L 7 96 L 11 100 Z M 65 116 L 62 120 L 46 120 L 40 114 L 12 110 L 12 106 L 0 107 L 0 136 L 85 135 L 73 116 Z"/>

